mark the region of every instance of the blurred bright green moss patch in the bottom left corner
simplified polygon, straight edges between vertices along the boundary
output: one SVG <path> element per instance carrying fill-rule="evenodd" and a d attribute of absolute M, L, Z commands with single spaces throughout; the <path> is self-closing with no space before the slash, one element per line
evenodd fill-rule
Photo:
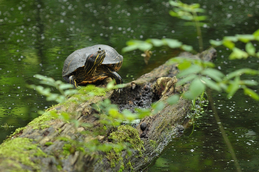
<path fill-rule="evenodd" d="M 31 167 L 34 171 L 39 171 L 37 161 L 32 161 L 32 158 L 47 157 L 47 154 L 39 148 L 38 144 L 34 144 L 32 139 L 18 137 L 0 145 L 0 157 L 4 159 L 0 166 L 10 165 L 17 170 L 21 169 L 19 165 L 21 163 Z"/>

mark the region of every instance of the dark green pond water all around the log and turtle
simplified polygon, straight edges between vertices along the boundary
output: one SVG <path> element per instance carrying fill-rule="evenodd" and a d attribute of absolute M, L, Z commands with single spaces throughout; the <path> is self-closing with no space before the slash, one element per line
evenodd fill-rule
<path fill-rule="evenodd" d="M 204 47 L 210 39 L 235 34 L 251 34 L 259 27 L 259 1 L 221 0 L 197 2 L 206 10 L 202 28 Z M 24 127 L 55 102 L 46 102 L 27 84 L 38 84 L 41 74 L 62 80 L 63 62 L 73 51 L 106 44 L 124 56 L 118 72 L 124 83 L 132 81 L 174 56 L 178 50 L 156 48 L 146 65 L 140 51 L 121 53 L 131 39 L 174 38 L 198 49 L 196 30 L 172 18 L 167 1 L 48 1 L 19 0 L 0 2 L 0 141 L 16 128 Z M 215 60 L 218 69 L 231 72 L 249 67 L 258 69 L 258 60 L 229 61 L 230 54 L 219 47 Z M 258 81 L 258 78 L 250 78 Z M 258 87 L 254 87 L 258 90 Z M 55 90 L 54 90 L 55 91 Z M 213 93 L 221 122 L 244 171 L 258 167 L 258 102 L 237 93 L 226 99 Z M 148 171 L 236 171 L 222 139 L 213 113 L 208 109 L 191 128 L 173 140 Z"/>

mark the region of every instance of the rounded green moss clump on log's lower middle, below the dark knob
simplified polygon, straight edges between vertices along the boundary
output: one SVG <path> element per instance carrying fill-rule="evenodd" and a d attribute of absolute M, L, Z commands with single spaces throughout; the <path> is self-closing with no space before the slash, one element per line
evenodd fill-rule
<path fill-rule="evenodd" d="M 129 143 L 129 147 L 134 150 L 138 150 L 141 153 L 141 149 L 144 149 L 144 142 L 139 137 L 139 132 L 135 128 L 129 125 L 121 125 L 116 132 L 110 134 L 110 138 L 114 142 Z"/>

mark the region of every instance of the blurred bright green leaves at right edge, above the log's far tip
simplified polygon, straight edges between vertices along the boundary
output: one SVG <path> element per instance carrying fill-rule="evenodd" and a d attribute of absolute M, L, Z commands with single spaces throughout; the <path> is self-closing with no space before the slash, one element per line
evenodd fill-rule
<path fill-rule="evenodd" d="M 245 51 L 236 47 L 236 42 L 242 42 L 245 44 Z M 229 59 L 247 59 L 248 56 L 254 56 L 259 58 L 259 52 L 256 53 L 256 48 L 253 45 L 253 41 L 259 41 L 259 29 L 256 30 L 253 34 L 236 34 L 235 36 L 224 36 L 222 40 L 210 40 L 210 43 L 213 46 L 223 45 L 229 50 L 232 50 L 232 53 L 229 55 Z"/>

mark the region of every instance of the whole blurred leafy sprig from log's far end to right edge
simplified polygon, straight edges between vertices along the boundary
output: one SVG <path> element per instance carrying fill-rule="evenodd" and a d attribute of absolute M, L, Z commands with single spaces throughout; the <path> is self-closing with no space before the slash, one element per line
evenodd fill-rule
<path fill-rule="evenodd" d="M 171 63 L 177 63 L 180 72 L 176 75 L 180 78 L 176 86 L 190 82 L 189 91 L 183 93 L 183 97 L 193 100 L 201 95 L 206 87 L 218 92 L 225 91 L 228 97 L 232 97 L 235 92 L 242 88 L 244 93 L 255 100 L 259 100 L 259 96 L 248 86 L 256 86 L 258 83 L 254 80 L 242 80 L 241 76 L 259 75 L 258 70 L 249 68 L 239 69 L 224 75 L 221 71 L 214 69 L 212 62 L 206 62 L 202 59 L 189 59 L 177 57 L 170 60 Z"/>

